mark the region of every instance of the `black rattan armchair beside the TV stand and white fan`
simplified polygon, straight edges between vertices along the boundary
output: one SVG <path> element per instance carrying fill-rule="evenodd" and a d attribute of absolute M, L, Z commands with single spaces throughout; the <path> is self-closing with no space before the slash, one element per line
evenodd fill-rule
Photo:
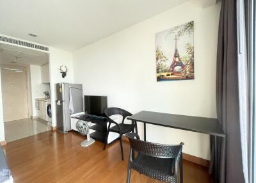
<path fill-rule="evenodd" d="M 105 109 L 104 113 L 108 117 L 109 125 L 108 125 L 108 129 L 107 129 L 107 134 L 106 134 L 105 144 L 104 144 L 103 150 L 105 150 L 106 145 L 108 144 L 108 134 L 109 134 L 109 132 L 116 132 L 120 135 L 119 138 L 120 138 L 121 154 L 122 154 L 122 160 L 124 160 L 122 135 L 126 134 L 128 132 L 132 132 L 132 128 L 134 128 L 134 127 L 136 129 L 136 132 L 138 133 L 137 123 L 135 123 L 134 127 L 132 127 L 132 125 L 124 123 L 124 120 L 127 116 L 132 116 L 131 113 L 129 113 L 128 111 L 125 111 L 124 109 L 120 109 L 120 108 L 117 108 L 117 107 L 109 107 L 109 108 Z M 109 116 L 112 116 L 112 115 L 122 115 L 123 116 L 122 123 L 118 124 L 114 120 L 109 118 Z M 115 126 L 110 127 L 111 123 L 114 123 Z"/>

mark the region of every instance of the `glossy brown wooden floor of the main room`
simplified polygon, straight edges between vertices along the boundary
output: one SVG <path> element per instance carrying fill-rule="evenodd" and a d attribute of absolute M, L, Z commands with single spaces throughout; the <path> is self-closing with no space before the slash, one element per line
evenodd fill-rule
<path fill-rule="evenodd" d="M 12 141 L 4 147 L 15 183 L 18 182 L 125 182 L 129 143 L 121 161 L 118 142 L 102 150 L 96 141 L 81 148 L 76 132 L 42 132 Z M 159 182 L 132 171 L 131 182 Z M 184 183 L 212 182 L 207 168 L 184 161 Z"/>

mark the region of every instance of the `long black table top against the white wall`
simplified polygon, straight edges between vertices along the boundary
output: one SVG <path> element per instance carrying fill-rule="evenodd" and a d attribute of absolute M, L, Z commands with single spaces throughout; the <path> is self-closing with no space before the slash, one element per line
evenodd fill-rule
<path fill-rule="evenodd" d="M 182 129 L 185 131 L 200 132 L 213 136 L 225 137 L 225 133 L 223 132 L 222 127 L 216 118 L 141 111 L 140 113 L 129 116 L 127 119 L 174 129 Z"/>

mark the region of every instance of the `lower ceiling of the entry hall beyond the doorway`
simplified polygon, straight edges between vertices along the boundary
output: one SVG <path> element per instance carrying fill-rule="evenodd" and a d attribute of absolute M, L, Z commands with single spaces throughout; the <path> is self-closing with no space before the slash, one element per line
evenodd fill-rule
<path fill-rule="evenodd" d="M 0 43 L 0 63 L 44 65 L 48 61 L 47 52 Z"/>

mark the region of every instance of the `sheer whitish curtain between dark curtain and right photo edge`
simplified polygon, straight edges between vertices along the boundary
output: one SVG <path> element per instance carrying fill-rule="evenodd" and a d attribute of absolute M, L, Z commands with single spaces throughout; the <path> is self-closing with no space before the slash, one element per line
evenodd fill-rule
<path fill-rule="evenodd" d="M 241 151 L 244 181 L 248 183 L 248 147 L 249 147 L 249 82 L 248 60 L 246 50 L 246 28 L 244 0 L 237 0 L 237 73 L 239 93 L 239 119 L 241 134 Z"/>

